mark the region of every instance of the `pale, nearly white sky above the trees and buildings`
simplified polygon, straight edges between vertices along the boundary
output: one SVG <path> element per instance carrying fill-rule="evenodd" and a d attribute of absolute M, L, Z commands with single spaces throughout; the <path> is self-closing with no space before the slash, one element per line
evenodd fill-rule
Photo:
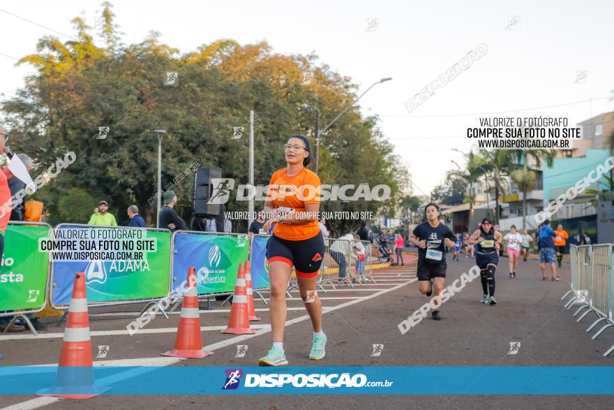
<path fill-rule="evenodd" d="M 569 117 L 575 124 L 614 110 L 613 1 L 113 1 L 124 41 L 142 41 L 149 30 L 181 52 L 202 43 L 233 38 L 239 43 L 268 41 L 276 52 L 315 52 L 320 61 L 347 75 L 359 92 L 382 77 L 361 100 L 364 115 L 379 114 L 384 135 L 410 168 L 414 183 L 429 192 L 454 168 L 451 160 L 467 150 L 467 126 L 479 115 Z M 98 1 L 5 0 L 0 9 L 73 34 L 70 20 L 83 15 L 93 25 Z M 518 27 L 506 29 L 508 16 Z M 368 19 L 379 24 L 367 31 Z M 35 51 L 36 41 L 52 31 L 0 11 L 0 54 L 20 58 Z M 63 41 L 67 38 L 56 34 Z M 437 89 L 411 114 L 405 101 L 436 80 L 480 43 L 488 53 Z M 9 96 L 31 68 L 15 67 L 0 55 L 0 92 Z M 585 82 L 576 71 L 587 71 Z M 608 97 L 608 98 L 604 98 Z M 601 99 L 599 99 L 601 98 Z M 425 117 L 454 115 L 454 117 Z M 502 114 L 504 115 L 504 114 Z M 451 137 L 451 138 L 444 138 Z M 419 191 L 416 191 L 419 193 Z"/>

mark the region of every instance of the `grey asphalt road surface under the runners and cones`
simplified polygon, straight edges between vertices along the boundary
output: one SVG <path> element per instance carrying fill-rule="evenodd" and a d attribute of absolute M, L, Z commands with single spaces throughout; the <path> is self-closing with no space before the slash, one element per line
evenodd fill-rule
<path fill-rule="evenodd" d="M 407 257 L 407 256 L 406 256 Z M 447 284 L 472 266 L 469 258 L 448 261 Z M 564 310 L 561 296 L 569 290 L 569 265 L 560 269 L 562 281 L 541 281 L 537 261 L 520 263 L 518 277 L 508 279 L 507 258 L 497 271 L 497 305 L 479 303 L 481 285 L 472 281 L 442 307 L 442 321 L 424 319 L 405 335 L 398 323 L 428 299 L 419 294 L 415 261 L 405 266 L 374 270 L 377 284 L 343 286 L 320 292 L 324 306 L 323 329 L 327 333 L 327 358 L 311 362 L 311 327 L 298 293 L 288 301 L 284 348 L 290 365 L 340 366 L 612 366 L 614 355 L 602 353 L 614 344 L 614 332 L 606 330 L 597 340 L 585 332 L 594 320 L 581 323 Z M 265 298 L 268 296 L 264 294 Z M 202 307 L 206 304 L 203 302 Z M 201 311 L 205 349 L 215 354 L 202 360 L 181 360 L 171 365 L 253 366 L 271 344 L 269 314 L 256 302 L 262 321 L 253 322 L 256 335 L 222 335 L 228 306 L 214 303 L 213 311 Z M 128 336 L 126 325 L 136 306 L 90 312 L 95 363 L 105 365 L 166 365 L 159 353 L 172 348 L 179 314 L 158 317 L 146 331 Z M 33 337 L 29 332 L 0 335 L 0 365 L 43 365 L 57 363 L 63 327 Z M 110 333 L 113 332 L 113 333 Z M 123 332 L 123 334 L 122 334 Z M 515 355 L 509 343 L 521 342 Z M 244 357 L 235 357 L 237 344 L 248 346 Z M 373 344 L 383 344 L 381 356 L 373 357 Z M 98 346 L 109 346 L 105 358 L 96 358 Z M 194 381 L 198 383 L 199 381 Z M 476 380 L 488 383 L 488 380 Z M 544 384 L 549 381 L 544 380 Z M 437 380 L 416 380 L 419 385 Z M 510 383 L 514 383 L 513 380 Z M 13 407 L 10 407 L 13 405 Z M 106 395 L 86 401 L 57 400 L 24 395 L 0 396 L 0 408 L 10 409 L 611 409 L 610 396 L 599 395 Z"/>

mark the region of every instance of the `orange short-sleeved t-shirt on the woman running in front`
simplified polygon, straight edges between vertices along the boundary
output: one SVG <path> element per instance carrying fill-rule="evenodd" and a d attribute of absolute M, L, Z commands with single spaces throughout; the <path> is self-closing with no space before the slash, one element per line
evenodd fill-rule
<path fill-rule="evenodd" d="M 273 207 L 290 212 L 304 212 L 305 204 L 320 203 L 320 177 L 312 170 L 303 168 L 297 175 L 286 175 L 287 168 L 276 170 L 271 176 L 267 200 L 273 200 Z M 306 240 L 320 233 L 315 221 L 305 224 L 275 224 L 273 233 L 286 240 Z"/>

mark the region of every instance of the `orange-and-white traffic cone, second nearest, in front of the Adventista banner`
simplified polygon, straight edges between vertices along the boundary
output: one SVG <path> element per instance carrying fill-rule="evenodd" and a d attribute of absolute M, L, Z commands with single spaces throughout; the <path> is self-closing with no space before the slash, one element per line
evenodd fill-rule
<path fill-rule="evenodd" d="M 198 312 L 198 294 L 196 292 L 196 269 L 188 269 L 188 290 L 184 293 L 184 302 L 181 303 L 179 328 L 172 351 L 160 353 L 162 356 L 175 358 L 202 359 L 214 354 L 212 351 L 202 350 L 202 336 L 200 335 L 200 312 Z"/>

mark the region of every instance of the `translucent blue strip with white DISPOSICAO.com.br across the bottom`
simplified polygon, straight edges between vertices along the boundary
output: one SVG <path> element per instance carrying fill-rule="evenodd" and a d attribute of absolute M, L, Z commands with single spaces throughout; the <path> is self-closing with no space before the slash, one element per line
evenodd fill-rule
<path fill-rule="evenodd" d="M 612 395 L 612 366 L 0 367 L 0 394 Z"/>

